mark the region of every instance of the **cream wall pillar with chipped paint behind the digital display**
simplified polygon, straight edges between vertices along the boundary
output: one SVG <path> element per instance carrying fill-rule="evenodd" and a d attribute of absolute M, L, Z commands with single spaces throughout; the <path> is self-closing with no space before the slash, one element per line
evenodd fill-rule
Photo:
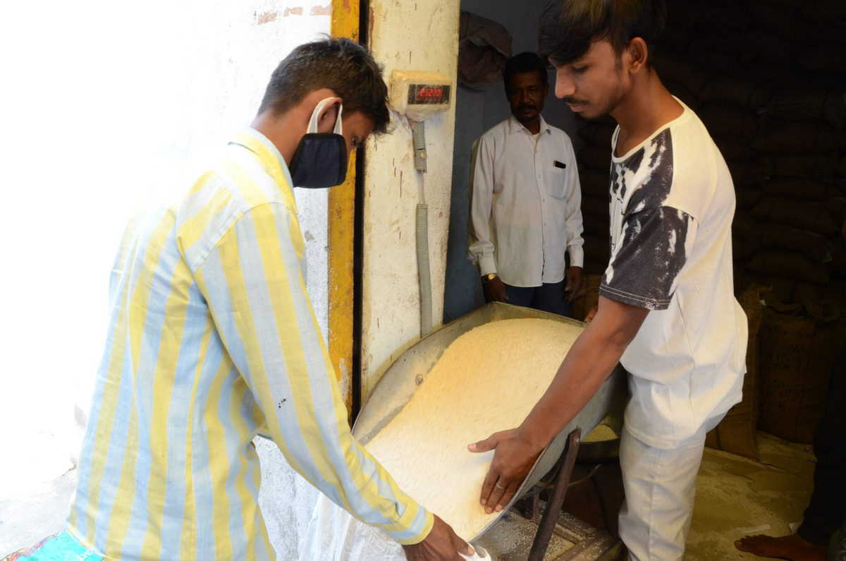
<path fill-rule="evenodd" d="M 458 0 L 371 0 L 370 45 L 385 66 L 440 72 L 454 83 L 458 60 Z M 453 171 L 455 90 L 451 108 L 426 120 L 429 255 L 432 317 L 443 309 L 449 195 Z M 384 370 L 420 337 L 420 294 L 415 253 L 418 179 L 411 131 L 393 114 L 393 134 L 370 141 L 365 162 L 362 279 L 362 399 Z"/>

